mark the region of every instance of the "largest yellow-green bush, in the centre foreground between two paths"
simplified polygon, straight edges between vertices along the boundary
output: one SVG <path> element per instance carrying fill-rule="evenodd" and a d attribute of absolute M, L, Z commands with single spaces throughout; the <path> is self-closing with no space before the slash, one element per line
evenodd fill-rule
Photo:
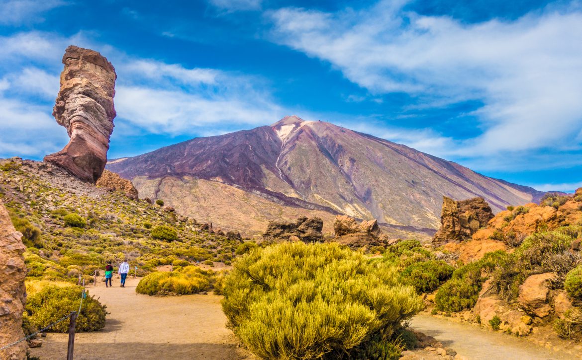
<path fill-rule="evenodd" d="M 345 354 L 374 334 L 391 336 L 423 306 L 393 267 L 338 244 L 255 249 L 235 262 L 223 291 L 229 327 L 268 359 Z"/>

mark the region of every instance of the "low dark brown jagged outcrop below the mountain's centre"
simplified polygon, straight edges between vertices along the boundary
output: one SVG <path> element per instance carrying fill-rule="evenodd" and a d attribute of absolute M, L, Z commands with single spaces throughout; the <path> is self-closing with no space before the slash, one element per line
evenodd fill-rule
<path fill-rule="evenodd" d="M 322 242 L 324 235 L 321 229 L 324 222 L 321 218 L 300 217 L 297 221 L 269 221 L 263 240 Z"/>

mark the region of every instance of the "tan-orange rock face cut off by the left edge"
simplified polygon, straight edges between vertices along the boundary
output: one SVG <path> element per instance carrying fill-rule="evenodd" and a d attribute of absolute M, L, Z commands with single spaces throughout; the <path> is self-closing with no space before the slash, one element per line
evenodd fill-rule
<path fill-rule="evenodd" d="M 26 303 L 24 245 L 0 200 L 0 344 L 22 339 L 22 312 Z M 0 350 L 0 358 L 26 359 L 26 341 Z"/>

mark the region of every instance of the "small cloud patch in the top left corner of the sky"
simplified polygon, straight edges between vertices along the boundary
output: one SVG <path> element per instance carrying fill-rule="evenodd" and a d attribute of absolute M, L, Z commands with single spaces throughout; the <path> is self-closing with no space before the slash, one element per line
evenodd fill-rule
<path fill-rule="evenodd" d="M 44 20 L 42 13 L 63 5 L 60 0 L 0 0 L 0 24 L 36 23 Z"/>

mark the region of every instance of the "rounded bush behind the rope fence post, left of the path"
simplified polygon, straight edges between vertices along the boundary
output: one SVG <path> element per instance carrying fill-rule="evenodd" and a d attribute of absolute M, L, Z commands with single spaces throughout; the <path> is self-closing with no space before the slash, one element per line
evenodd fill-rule
<path fill-rule="evenodd" d="M 81 293 L 80 286 L 45 286 L 38 293 L 29 296 L 26 300 L 26 312 L 30 322 L 41 329 L 71 311 L 79 311 Z M 83 307 L 77 317 L 77 331 L 101 330 L 105 326 L 105 305 L 92 296 L 83 299 Z M 65 320 L 48 329 L 49 332 L 66 333 L 69 321 Z"/>

